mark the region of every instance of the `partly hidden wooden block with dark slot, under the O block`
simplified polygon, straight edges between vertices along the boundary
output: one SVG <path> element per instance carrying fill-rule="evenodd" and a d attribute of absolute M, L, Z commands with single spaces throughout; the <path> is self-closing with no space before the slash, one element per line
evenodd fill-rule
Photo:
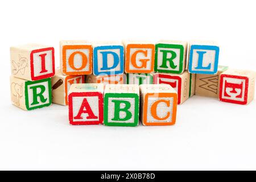
<path fill-rule="evenodd" d="M 72 84 L 84 84 L 83 75 L 62 75 L 60 69 L 57 69 L 52 82 L 52 102 L 60 105 L 68 105 L 68 91 Z"/>

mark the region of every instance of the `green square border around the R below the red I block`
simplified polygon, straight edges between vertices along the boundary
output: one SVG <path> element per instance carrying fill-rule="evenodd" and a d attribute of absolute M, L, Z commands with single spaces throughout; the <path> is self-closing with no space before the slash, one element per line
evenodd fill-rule
<path fill-rule="evenodd" d="M 49 103 L 48 104 L 43 104 L 43 105 L 40 105 L 40 106 L 35 106 L 35 107 L 29 107 L 29 104 L 28 104 L 28 85 L 32 85 L 32 84 L 38 84 L 38 83 L 41 83 L 41 82 L 48 82 L 48 91 L 49 91 Z M 46 78 L 46 79 L 43 79 L 43 80 L 36 80 L 36 81 L 26 81 L 25 82 L 25 101 L 26 101 L 26 108 L 27 110 L 33 110 L 33 109 L 38 109 L 38 108 L 42 108 L 42 107 L 46 107 L 46 106 L 49 106 L 52 104 L 52 90 L 51 90 L 51 78 Z"/>

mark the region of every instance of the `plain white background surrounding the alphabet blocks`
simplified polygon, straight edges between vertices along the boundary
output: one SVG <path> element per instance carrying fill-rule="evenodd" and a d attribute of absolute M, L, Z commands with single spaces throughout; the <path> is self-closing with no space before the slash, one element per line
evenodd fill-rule
<path fill-rule="evenodd" d="M 193 96 L 170 127 L 71 126 L 68 108 L 10 102 L 10 46 L 59 40 L 216 40 L 254 69 L 255 1 L 1 1 L 0 169 L 256 169 L 256 102 Z"/>

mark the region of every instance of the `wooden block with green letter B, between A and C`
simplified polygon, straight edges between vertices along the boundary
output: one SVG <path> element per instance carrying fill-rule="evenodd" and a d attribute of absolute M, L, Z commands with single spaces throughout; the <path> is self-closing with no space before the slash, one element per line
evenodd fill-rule
<path fill-rule="evenodd" d="M 104 125 L 138 126 L 139 86 L 106 85 L 104 93 Z"/>

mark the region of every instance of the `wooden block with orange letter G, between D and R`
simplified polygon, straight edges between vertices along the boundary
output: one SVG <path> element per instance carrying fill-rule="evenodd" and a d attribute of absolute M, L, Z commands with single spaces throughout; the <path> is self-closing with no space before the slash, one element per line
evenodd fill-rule
<path fill-rule="evenodd" d="M 155 45 L 148 42 L 127 41 L 125 44 L 125 72 L 152 73 L 155 63 Z"/>

